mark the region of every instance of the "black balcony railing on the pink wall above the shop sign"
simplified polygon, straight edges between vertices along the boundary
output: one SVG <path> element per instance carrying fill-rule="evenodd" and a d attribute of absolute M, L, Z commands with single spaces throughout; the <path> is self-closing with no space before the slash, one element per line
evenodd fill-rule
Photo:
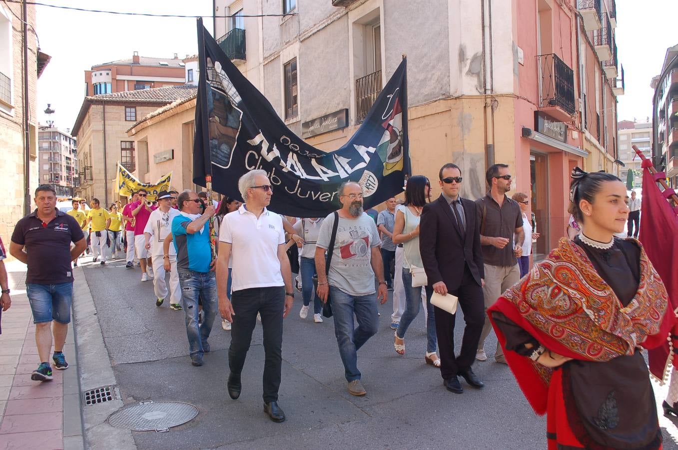
<path fill-rule="evenodd" d="M 542 77 L 540 107 L 557 106 L 573 115 L 574 72 L 557 54 L 538 55 L 537 59 Z"/>

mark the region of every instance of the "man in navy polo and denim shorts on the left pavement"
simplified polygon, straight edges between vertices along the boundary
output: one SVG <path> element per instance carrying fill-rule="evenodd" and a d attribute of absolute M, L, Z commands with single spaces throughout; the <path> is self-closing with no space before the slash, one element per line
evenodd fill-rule
<path fill-rule="evenodd" d="M 35 189 L 34 200 L 37 209 L 14 227 L 9 253 L 28 265 L 26 294 L 33 311 L 35 343 L 41 361 L 31 379 L 46 381 L 52 379 L 52 367 L 47 362 L 52 349 L 52 333 L 54 367 L 68 369 L 62 350 L 71 322 L 71 262 L 85 250 L 87 241 L 75 218 L 56 209 L 53 187 L 39 186 Z M 75 244 L 73 248 L 71 242 Z M 54 326 L 50 326 L 53 320 Z"/>

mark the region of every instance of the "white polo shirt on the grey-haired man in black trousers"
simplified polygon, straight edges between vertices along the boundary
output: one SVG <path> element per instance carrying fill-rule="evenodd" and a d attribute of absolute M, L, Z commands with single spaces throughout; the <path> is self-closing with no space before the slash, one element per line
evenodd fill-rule
<path fill-rule="evenodd" d="M 264 208 L 257 219 L 243 204 L 224 216 L 219 240 L 231 244 L 233 292 L 285 286 L 278 259 L 278 247 L 285 244 L 285 230 L 278 214 Z"/>

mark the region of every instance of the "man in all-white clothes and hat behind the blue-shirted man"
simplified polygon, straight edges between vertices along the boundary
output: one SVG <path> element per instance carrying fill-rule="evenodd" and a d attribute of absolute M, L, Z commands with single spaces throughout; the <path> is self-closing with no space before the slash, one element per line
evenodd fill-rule
<path fill-rule="evenodd" d="M 176 270 L 176 248 L 169 246 L 167 254 L 163 252 L 163 243 L 167 235 L 172 232 L 172 221 L 179 215 L 179 210 L 172 208 L 172 195 L 167 191 L 160 191 L 157 196 L 158 209 L 151 212 L 144 227 L 146 250 L 151 251 L 153 264 L 153 290 L 155 290 L 155 305 L 160 306 L 167 297 L 167 282 L 165 281 L 165 261 L 168 261 L 169 271 L 169 307 L 181 311 L 181 288 L 179 273 Z"/>

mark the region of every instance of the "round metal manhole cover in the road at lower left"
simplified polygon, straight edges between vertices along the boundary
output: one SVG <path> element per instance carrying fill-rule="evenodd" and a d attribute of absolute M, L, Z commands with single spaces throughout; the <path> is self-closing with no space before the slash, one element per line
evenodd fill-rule
<path fill-rule="evenodd" d="M 108 424 L 132 431 L 167 431 L 198 415 L 198 409 L 184 402 L 140 402 L 108 416 Z"/>

